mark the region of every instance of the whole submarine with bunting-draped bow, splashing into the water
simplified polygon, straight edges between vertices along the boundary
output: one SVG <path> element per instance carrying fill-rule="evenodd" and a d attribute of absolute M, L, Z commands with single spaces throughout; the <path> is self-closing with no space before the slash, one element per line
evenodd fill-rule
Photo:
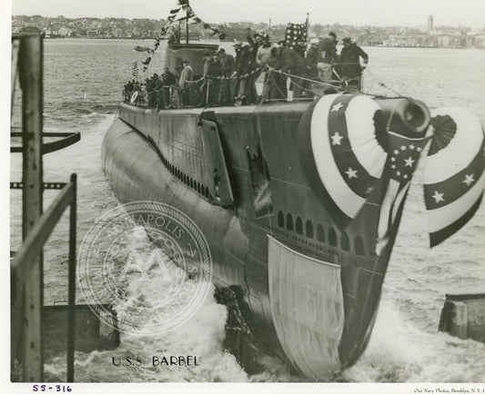
<path fill-rule="evenodd" d="M 213 46 L 168 44 L 165 65 L 176 73 L 188 59 L 197 79 Z M 419 159 L 435 246 L 480 206 L 483 141 L 473 114 L 409 97 L 119 103 L 102 166 L 119 202 L 170 205 L 203 232 L 237 360 L 269 353 L 328 381 L 369 342 Z"/>

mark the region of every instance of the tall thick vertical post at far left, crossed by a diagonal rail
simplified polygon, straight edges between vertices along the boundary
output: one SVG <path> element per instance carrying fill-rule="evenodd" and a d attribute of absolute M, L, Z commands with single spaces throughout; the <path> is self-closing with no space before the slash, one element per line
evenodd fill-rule
<path fill-rule="evenodd" d="M 42 214 L 42 126 L 43 126 L 43 42 L 40 34 L 20 41 L 19 79 L 22 89 L 23 155 L 23 239 Z M 25 273 L 23 317 L 23 370 L 25 381 L 44 380 L 42 310 L 44 308 L 44 263 L 42 253 L 34 268 Z"/>

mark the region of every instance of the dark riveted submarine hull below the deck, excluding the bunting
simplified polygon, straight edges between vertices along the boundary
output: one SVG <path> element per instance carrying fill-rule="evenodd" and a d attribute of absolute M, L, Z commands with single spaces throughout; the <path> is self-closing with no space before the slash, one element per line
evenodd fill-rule
<path fill-rule="evenodd" d="M 327 381 L 367 346 L 397 226 L 379 255 L 378 203 L 338 229 L 296 152 L 309 105 L 120 104 L 102 163 L 120 202 L 163 202 L 197 224 L 217 291 L 230 292 L 249 340 Z"/>

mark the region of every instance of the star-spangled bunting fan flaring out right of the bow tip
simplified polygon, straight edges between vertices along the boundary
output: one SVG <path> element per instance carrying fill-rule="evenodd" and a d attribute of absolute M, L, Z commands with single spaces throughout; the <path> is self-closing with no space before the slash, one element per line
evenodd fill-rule
<path fill-rule="evenodd" d="M 429 242 L 459 231 L 479 209 L 485 185 L 485 145 L 480 120 L 461 108 L 431 112 L 432 140 L 424 167 Z"/>

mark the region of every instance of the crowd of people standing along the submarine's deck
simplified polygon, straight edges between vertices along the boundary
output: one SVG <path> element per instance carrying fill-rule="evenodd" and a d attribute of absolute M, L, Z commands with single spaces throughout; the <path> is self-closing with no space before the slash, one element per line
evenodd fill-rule
<path fill-rule="evenodd" d="M 124 100 L 162 109 L 313 98 L 314 83 L 323 86 L 324 93 L 361 90 L 364 67 L 360 58 L 368 64 L 369 56 L 350 37 L 342 40 L 340 54 L 333 32 L 312 38 L 309 45 L 299 39 L 293 47 L 284 41 L 272 43 L 268 34 L 248 34 L 247 41 L 233 44 L 234 55 L 223 48 L 204 52 L 202 75 L 195 75 L 184 60 L 177 75 L 166 67 L 163 74 L 154 74 L 143 83 L 130 81 L 125 85 Z M 255 83 L 262 72 L 266 74 L 258 95 Z"/>

